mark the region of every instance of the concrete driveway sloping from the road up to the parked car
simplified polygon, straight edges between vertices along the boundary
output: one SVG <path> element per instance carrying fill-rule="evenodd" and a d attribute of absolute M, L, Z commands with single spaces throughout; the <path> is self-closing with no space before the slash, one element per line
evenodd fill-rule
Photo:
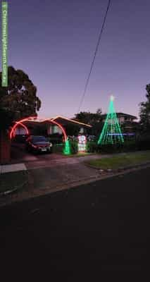
<path fill-rule="evenodd" d="M 15 147 L 13 152 L 15 152 Z M 20 154 L 18 154 L 20 152 Z M 61 154 L 32 155 L 25 152 L 23 145 L 17 148 L 15 154 L 17 162 L 24 162 L 29 176 L 27 190 L 11 195 L 6 202 L 28 199 L 49 192 L 89 183 L 96 179 L 104 178 L 99 170 L 85 166 L 87 159 L 109 157 L 108 155 L 89 155 L 85 157 L 66 157 Z M 4 201 L 2 201 L 3 203 Z"/>

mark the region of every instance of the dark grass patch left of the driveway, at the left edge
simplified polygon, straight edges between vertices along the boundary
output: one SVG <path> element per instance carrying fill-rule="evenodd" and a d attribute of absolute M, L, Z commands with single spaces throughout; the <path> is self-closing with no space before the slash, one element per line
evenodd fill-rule
<path fill-rule="evenodd" d="M 0 175 L 0 193 L 15 188 L 21 188 L 27 182 L 26 171 L 15 171 L 11 173 L 1 173 Z"/>

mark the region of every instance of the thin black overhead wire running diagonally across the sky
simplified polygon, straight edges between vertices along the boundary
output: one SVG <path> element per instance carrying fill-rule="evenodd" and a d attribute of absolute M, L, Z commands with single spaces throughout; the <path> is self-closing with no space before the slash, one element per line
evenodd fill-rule
<path fill-rule="evenodd" d="M 84 90 L 84 92 L 83 92 L 83 94 L 82 94 L 82 97 L 81 97 L 81 100 L 80 100 L 80 106 L 79 106 L 79 109 L 78 109 L 78 111 L 77 111 L 77 114 L 79 114 L 80 108 L 81 108 L 81 106 L 82 106 L 82 102 L 83 102 L 83 100 L 84 100 L 84 98 L 85 98 L 85 93 L 86 93 L 86 91 L 87 91 L 87 85 L 88 85 L 88 83 L 89 83 L 89 78 L 90 78 L 90 75 L 91 75 L 91 73 L 92 73 L 92 68 L 93 68 L 93 66 L 94 66 L 94 61 L 95 61 L 95 58 L 96 58 L 96 53 L 97 53 L 97 51 L 98 51 L 98 49 L 99 49 L 99 43 L 100 43 L 100 41 L 101 41 L 101 35 L 102 35 L 102 33 L 103 33 L 103 30 L 104 30 L 104 25 L 105 25 L 105 22 L 106 22 L 106 18 L 107 18 L 108 9 L 109 9 L 110 4 L 111 4 L 111 0 L 108 0 L 108 5 L 107 5 L 106 13 L 105 13 L 105 16 L 104 16 L 103 25 L 102 25 L 102 27 L 101 27 L 101 32 L 99 33 L 99 39 L 98 39 L 98 42 L 97 42 L 97 44 L 96 44 L 96 49 L 95 49 L 95 52 L 94 52 L 94 57 L 93 57 L 93 59 L 92 59 L 91 68 L 90 68 L 90 71 L 89 71 L 89 75 L 87 76 L 87 80 L 86 80 L 86 83 L 85 83 L 85 90 Z"/>

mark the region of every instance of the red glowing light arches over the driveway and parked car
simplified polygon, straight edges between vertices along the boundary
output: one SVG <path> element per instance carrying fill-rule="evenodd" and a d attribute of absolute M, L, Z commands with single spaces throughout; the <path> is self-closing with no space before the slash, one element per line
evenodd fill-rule
<path fill-rule="evenodd" d="M 27 127 L 25 125 L 23 125 L 24 122 L 27 122 L 27 121 L 34 121 L 36 123 L 44 123 L 46 121 L 49 121 L 49 123 L 53 123 L 53 124 L 56 124 L 58 126 L 58 128 L 61 128 L 62 130 L 62 133 L 63 133 L 63 136 L 64 136 L 64 141 L 66 142 L 68 140 L 68 137 L 65 133 L 65 129 L 63 128 L 63 126 L 56 122 L 56 121 L 53 121 L 53 119 L 51 120 L 51 118 L 46 118 L 46 119 L 38 119 L 37 116 L 29 116 L 28 118 L 23 118 L 21 119 L 20 121 L 16 121 L 15 122 L 15 125 L 13 125 L 13 128 L 11 128 L 11 133 L 10 133 L 10 138 L 12 139 L 12 137 L 15 136 L 15 128 L 17 128 L 18 125 L 22 125 L 26 128 L 26 131 L 28 132 L 27 130 Z"/>

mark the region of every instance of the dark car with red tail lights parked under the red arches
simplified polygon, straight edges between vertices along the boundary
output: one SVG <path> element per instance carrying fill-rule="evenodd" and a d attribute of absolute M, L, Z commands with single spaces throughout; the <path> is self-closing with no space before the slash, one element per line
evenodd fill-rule
<path fill-rule="evenodd" d="M 44 136 L 30 135 L 26 140 L 26 149 L 29 152 L 52 152 L 52 144 Z"/>

